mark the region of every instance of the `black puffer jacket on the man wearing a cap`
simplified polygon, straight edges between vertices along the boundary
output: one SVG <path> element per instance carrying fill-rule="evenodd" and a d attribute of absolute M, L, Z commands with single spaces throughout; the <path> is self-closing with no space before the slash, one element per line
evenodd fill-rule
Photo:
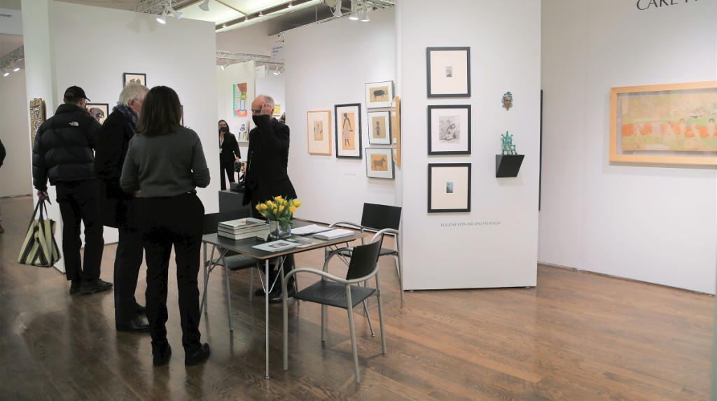
<path fill-rule="evenodd" d="M 100 125 L 77 105 L 60 105 L 54 116 L 43 122 L 32 148 L 32 183 L 47 190 L 60 181 L 92 180 Z"/>

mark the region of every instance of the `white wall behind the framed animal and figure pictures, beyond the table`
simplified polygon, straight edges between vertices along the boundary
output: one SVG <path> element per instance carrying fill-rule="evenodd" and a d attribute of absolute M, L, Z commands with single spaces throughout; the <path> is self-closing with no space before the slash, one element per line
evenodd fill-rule
<path fill-rule="evenodd" d="M 395 180 L 366 177 L 364 84 L 394 81 L 396 59 L 394 9 L 370 16 L 366 23 L 345 16 L 285 33 L 289 176 L 303 201 L 297 218 L 359 222 L 364 202 L 395 204 Z M 361 104 L 361 159 L 336 158 L 334 105 L 348 103 Z M 331 110 L 331 155 L 308 154 L 309 110 Z"/>

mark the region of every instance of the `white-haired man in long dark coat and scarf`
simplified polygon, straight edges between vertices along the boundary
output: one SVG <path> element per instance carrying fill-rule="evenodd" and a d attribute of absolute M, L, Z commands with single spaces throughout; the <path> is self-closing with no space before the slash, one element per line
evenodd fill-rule
<path fill-rule="evenodd" d="M 122 166 L 130 139 L 136 133 L 137 119 L 148 89 L 143 84 L 128 82 L 117 106 L 105 120 L 95 154 L 95 173 L 100 179 L 100 221 L 118 229 L 119 241 L 115 254 L 115 329 L 118 332 L 149 331 L 145 306 L 137 303 L 135 292 L 142 266 L 143 244 L 138 231 L 138 211 L 133 195 L 120 188 Z"/>

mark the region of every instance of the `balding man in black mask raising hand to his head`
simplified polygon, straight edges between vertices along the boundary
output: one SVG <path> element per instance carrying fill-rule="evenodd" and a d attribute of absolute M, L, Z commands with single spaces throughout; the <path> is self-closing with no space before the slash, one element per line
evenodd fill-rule
<path fill-rule="evenodd" d="M 247 156 L 246 187 L 243 205 L 251 203 L 252 217 L 261 218 L 255 208 L 272 196 L 296 198 L 296 191 L 289 179 L 289 127 L 272 118 L 274 100 L 267 95 L 259 95 L 252 102 L 252 120 L 255 127 L 249 132 L 249 151 Z M 294 256 L 290 255 L 284 263 L 286 271 L 293 269 Z M 274 276 L 277 272 L 273 273 Z M 293 282 L 287 283 L 288 296 L 295 294 Z M 270 282 L 273 280 L 270 278 Z M 264 296 L 262 289 L 257 296 Z M 269 301 L 281 302 L 281 285 L 277 282 Z"/>

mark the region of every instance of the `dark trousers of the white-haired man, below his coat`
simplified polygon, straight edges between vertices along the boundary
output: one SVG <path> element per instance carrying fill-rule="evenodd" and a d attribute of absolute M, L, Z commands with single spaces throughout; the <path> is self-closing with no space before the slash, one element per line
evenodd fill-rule
<path fill-rule="evenodd" d="M 142 266 L 142 236 L 137 227 L 118 227 L 120 234 L 115 254 L 115 323 L 127 323 L 137 317 L 137 279 Z"/>

